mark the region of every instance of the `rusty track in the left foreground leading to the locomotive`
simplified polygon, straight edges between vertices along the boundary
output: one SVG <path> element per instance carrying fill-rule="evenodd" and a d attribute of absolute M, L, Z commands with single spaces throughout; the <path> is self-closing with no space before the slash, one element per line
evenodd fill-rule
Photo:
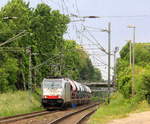
<path fill-rule="evenodd" d="M 43 110 L 43 111 L 33 112 L 33 113 L 28 113 L 28 114 L 20 114 L 20 115 L 15 115 L 15 116 L 10 116 L 10 117 L 2 117 L 0 118 L 0 124 L 7 124 L 11 122 L 16 122 L 19 120 L 28 119 L 28 118 L 33 118 L 33 117 L 42 116 L 46 114 L 52 114 L 54 112 L 56 112 L 56 110 L 55 111 Z"/>

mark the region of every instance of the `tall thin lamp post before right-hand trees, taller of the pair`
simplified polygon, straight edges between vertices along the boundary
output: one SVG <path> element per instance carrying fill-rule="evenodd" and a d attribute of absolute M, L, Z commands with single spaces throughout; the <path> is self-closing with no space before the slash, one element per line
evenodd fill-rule
<path fill-rule="evenodd" d="M 135 75 L 135 68 L 134 68 L 134 64 L 135 64 L 135 29 L 136 27 L 133 25 L 129 25 L 128 28 L 132 28 L 133 29 L 133 43 L 132 43 L 132 96 L 134 96 L 135 91 L 134 91 L 134 84 L 135 84 L 135 79 L 134 79 L 134 75 Z"/>

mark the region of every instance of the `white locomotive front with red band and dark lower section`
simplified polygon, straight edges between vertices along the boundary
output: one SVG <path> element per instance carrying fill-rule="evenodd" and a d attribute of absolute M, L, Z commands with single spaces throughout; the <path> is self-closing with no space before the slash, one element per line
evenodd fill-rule
<path fill-rule="evenodd" d="M 44 108 L 61 107 L 64 104 L 63 83 L 60 79 L 44 79 L 42 83 Z"/>

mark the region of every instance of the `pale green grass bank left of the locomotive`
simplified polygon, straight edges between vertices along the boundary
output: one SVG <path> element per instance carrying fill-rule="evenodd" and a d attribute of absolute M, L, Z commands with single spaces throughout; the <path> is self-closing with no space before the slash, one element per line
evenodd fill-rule
<path fill-rule="evenodd" d="M 40 97 L 28 91 L 0 94 L 0 117 L 42 110 Z"/>

